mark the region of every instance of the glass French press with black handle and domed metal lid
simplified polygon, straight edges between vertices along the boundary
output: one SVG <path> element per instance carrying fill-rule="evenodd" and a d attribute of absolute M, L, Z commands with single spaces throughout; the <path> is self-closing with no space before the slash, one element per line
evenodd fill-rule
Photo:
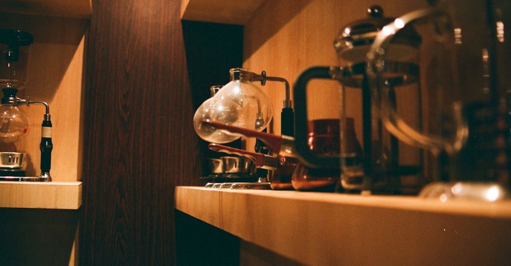
<path fill-rule="evenodd" d="M 341 171 L 338 190 L 345 192 L 367 193 L 401 193 L 401 177 L 417 175 L 421 171 L 419 163 L 401 165 L 399 163 L 399 146 L 396 137 L 389 134 L 379 119 L 373 104 L 373 93 L 369 86 L 366 72 L 366 55 L 378 32 L 393 18 L 383 16 L 383 9 L 372 6 L 367 9 L 369 17 L 354 21 L 342 28 L 334 41 L 340 66 L 311 67 L 298 77 L 294 86 L 295 119 L 296 119 L 296 151 L 304 163 L 313 168 L 338 168 Z M 385 82 L 396 91 L 397 88 L 414 90 L 421 95 L 417 83 L 419 65 L 417 64 L 417 46 L 421 38 L 412 28 L 404 29 L 392 45 L 392 60 L 384 66 Z M 307 146 L 307 84 L 311 79 L 336 79 L 340 83 L 340 154 L 324 156 L 315 154 Z M 312 88 L 310 88 L 312 89 Z M 396 90 L 394 90 L 396 89 Z M 346 116 L 346 93 L 361 94 L 362 107 L 362 151 L 348 150 L 352 147 L 353 129 L 348 127 Z M 396 93 L 391 101 L 397 103 Z M 419 97 L 419 96 L 416 96 Z M 420 102 L 420 100 L 417 100 Z M 358 120 L 358 117 L 354 117 Z M 420 115 L 415 117 L 420 120 Z M 417 150 L 420 153 L 419 150 Z M 421 156 L 421 154 L 417 155 Z M 419 181 L 416 181 L 419 182 Z M 416 185 L 419 187 L 419 185 Z M 416 189 L 418 191 L 418 189 Z"/>

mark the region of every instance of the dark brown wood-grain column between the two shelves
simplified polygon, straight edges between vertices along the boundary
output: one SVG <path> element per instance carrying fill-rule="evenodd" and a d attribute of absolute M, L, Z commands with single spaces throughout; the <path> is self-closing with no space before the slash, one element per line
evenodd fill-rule
<path fill-rule="evenodd" d="M 174 187 L 198 183 L 202 171 L 192 125 L 200 97 L 193 93 L 198 87 L 207 93 L 215 84 L 189 79 L 179 4 L 92 3 L 79 245 L 83 265 L 175 263 Z M 196 55 L 222 50 L 207 32 L 189 36 L 210 42 Z M 241 52 L 230 57 L 241 64 Z M 230 61 L 229 56 L 212 60 Z M 202 63 L 210 64 L 204 58 Z"/>

